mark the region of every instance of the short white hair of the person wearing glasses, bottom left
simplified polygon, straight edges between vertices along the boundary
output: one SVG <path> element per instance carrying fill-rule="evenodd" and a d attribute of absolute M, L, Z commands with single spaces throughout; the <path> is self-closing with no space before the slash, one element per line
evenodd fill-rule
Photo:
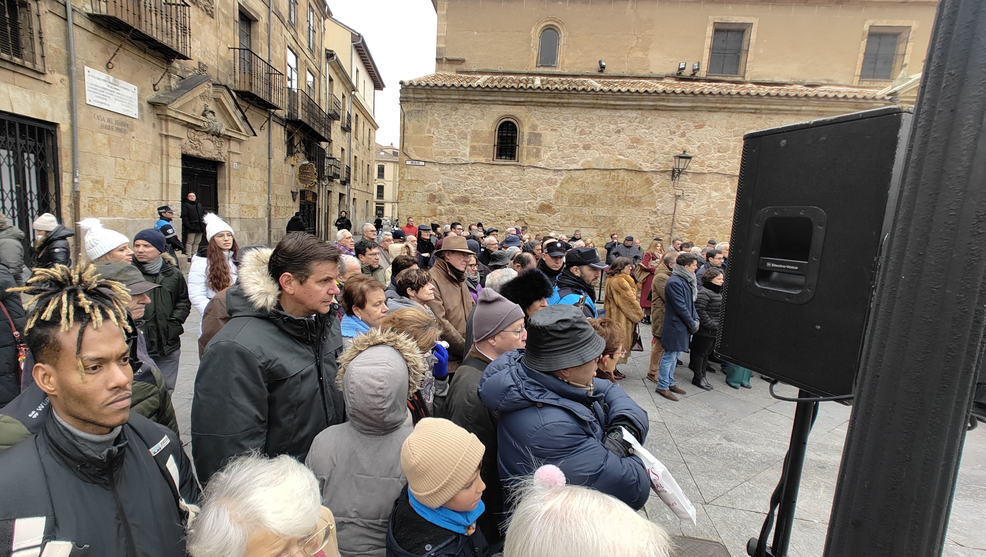
<path fill-rule="evenodd" d="M 315 474 L 287 454 L 231 461 L 209 479 L 188 532 L 191 557 L 243 557 L 250 533 L 286 539 L 315 531 L 321 494 Z"/>

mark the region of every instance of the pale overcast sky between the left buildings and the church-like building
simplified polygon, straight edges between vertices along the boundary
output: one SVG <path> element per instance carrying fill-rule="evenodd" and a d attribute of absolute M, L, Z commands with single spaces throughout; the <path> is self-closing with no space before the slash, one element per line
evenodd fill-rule
<path fill-rule="evenodd" d="M 399 146 L 400 80 L 435 72 L 435 26 L 431 0 L 328 0 L 332 17 L 366 38 L 380 69 L 377 143 Z"/>

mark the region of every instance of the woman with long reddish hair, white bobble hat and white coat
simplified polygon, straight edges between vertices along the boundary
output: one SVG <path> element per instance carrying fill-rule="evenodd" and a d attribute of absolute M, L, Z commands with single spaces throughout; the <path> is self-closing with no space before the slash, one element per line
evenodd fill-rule
<path fill-rule="evenodd" d="M 188 299 L 201 315 L 217 292 L 226 290 L 237 282 L 237 265 L 234 262 L 240 252 L 233 235 L 233 228 L 219 215 L 207 213 L 205 221 L 205 253 L 199 251 L 191 258 L 188 268 Z M 202 334 L 201 324 L 198 334 Z"/>

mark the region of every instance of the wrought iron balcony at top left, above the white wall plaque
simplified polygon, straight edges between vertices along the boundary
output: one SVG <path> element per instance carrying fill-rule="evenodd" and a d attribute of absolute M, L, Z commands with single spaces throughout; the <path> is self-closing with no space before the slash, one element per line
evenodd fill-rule
<path fill-rule="evenodd" d="M 191 59 L 190 7 L 183 0 L 91 0 L 90 17 L 166 58 Z"/>

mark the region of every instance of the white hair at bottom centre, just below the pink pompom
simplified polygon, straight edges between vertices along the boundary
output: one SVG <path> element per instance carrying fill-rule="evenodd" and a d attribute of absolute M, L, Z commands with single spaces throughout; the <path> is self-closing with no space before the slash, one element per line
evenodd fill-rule
<path fill-rule="evenodd" d="M 581 485 L 527 480 L 507 527 L 504 557 L 668 557 L 660 525 L 622 501 Z"/>

